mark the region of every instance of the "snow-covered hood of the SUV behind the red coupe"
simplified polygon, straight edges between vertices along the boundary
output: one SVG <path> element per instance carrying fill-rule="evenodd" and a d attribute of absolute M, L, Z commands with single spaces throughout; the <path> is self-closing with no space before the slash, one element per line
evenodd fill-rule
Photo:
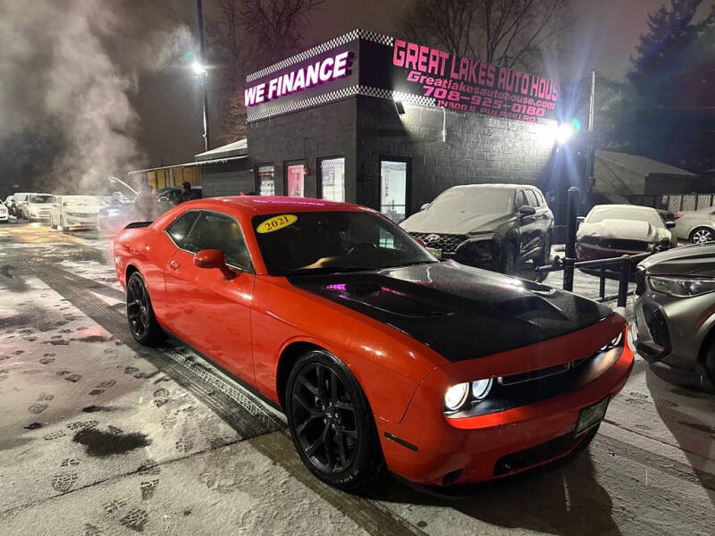
<path fill-rule="evenodd" d="M 400 223 L 400 227 L 408 232 L 467 234 L 467 232 L 494 230 L 508 219 L 509 214 L 449 213 L 427 209 L 412 214 Z"/>

